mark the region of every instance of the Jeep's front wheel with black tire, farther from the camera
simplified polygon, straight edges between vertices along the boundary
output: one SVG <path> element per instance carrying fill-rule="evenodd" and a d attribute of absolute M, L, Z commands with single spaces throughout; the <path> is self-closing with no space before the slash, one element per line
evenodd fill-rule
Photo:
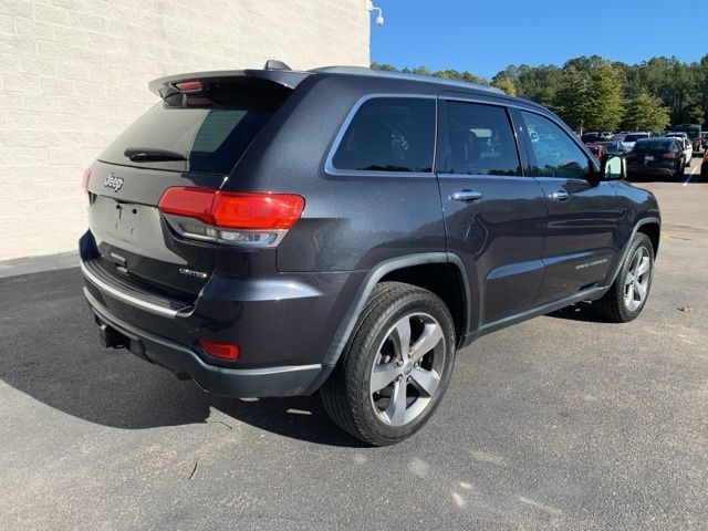
<path fill-rule="evenodd" d="M 644 296 L 636 308 L 628 308 L 627 302 L 625 301 L 625 295 L 627 293 L 627 281 L 629 279 L 628 273 L 631 272 L 631 268 L 634 267 L 634 259 L 639 252 L 639 249 L 644 249 L 646 256 L 648 256 L 648 272 L 646 274 L 646 287 L 644 288 Z M 620 272 L 617 273 L 617 278 L 613 282 L 612 287 L 605 293 L 602 299 L 593 302 L 593 306 L 608 321 L 615 323 L 628 323 L 629 321 L 634 321 L 637 319 L 644 305 L 646 304 L 647 299 L 649 298 L 649 292 L 652 290 L 652 280 L 654 277 L 654 246 L 652 246 L 652 240 L 646 235 L 642 232 L 637 232 L 632 240 L 632 244 L 629 246 L 629 251 L 625 258 Z M 644 282 L 642 282 L 644 283 Z M 636 284 L 635 284 L 636 285 Z M 634 293 L 634 287 L 632 287 Z M 634 301 L 636 302 L 636 301 Z"/>

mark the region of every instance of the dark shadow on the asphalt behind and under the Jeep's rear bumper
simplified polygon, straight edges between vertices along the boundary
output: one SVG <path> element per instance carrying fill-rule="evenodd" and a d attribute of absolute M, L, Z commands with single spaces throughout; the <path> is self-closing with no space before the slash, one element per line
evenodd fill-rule
<path fill-rule="evenodd" d="M 320 445 L 362 446 L 329 419 L 316 396 L 216 397 L 128 351 L 102 348 L 82 285 L 77 269 L 0 280 L 2 382 L 54 409 L 108 427 L 219 421 L 233 428 L 241 421 Z M 0 396 L 4 394 L 0 383 Z M 227 418 L 211 418 L 214 409 Z"/>

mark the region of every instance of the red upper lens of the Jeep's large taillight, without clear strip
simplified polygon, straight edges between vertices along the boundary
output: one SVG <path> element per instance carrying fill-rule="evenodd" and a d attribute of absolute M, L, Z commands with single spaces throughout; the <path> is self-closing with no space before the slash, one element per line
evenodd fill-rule
<path fill-rule="evenodd" d="M 165 214 L 195 218 L 227 229 L 290 229 L 304 209 L 305 200 L 294 194 L 253 194 L 208 188 L 168 188 L 159 200 Z"/>

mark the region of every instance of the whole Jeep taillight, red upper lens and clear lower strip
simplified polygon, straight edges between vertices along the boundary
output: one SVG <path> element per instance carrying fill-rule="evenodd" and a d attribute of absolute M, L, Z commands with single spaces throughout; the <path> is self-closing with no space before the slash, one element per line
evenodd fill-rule
<path fill-rule="evenodd" d="M 273 247 L 300 219 L 305 201 L 294 194 L 168 188 L 159 209 L 183 236 L 249 247 Z"/>

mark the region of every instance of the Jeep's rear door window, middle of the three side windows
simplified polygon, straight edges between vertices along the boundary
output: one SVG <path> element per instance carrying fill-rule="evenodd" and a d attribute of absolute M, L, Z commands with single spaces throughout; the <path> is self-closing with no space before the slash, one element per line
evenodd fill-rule
<path fill-rule="evenodd" d="M 520 175 L 517 145 L 503 107 L 447 102 L 447 148 L 441 171 Z"/>

